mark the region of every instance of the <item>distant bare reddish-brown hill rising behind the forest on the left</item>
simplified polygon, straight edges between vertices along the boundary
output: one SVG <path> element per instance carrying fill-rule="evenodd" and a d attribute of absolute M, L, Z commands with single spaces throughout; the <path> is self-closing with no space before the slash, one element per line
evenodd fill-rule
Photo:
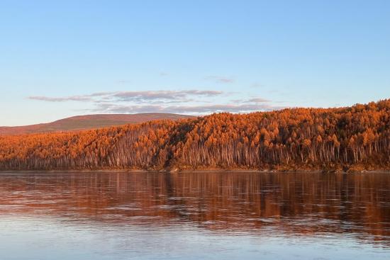
<path fill-rule="evenodd" d="M 113 125 L 126 125 L 143 123 L 151 120 L 178 120 L 191 118 L 190 115 L 177 115 L 170 113 L 138 113 L 138 114 L 98 114 L 98 115 L 77 115 L 71 118 L 64 118 L 52 123 L 37 125 L 24 125 L 13 127 L 0 127 L 0 135 L 23 135 L 39 132 L 62 132 L 74 130 L 88 130 L 94 128 L 105 128 Z"/>

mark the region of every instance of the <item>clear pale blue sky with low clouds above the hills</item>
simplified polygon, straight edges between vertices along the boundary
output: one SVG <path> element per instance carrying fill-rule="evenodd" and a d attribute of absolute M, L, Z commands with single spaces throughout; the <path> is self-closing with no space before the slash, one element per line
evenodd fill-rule
<path fill-rule="evenodd" d="M 0 125 L 384 98 L 387 0 L 0 0 Z"/>

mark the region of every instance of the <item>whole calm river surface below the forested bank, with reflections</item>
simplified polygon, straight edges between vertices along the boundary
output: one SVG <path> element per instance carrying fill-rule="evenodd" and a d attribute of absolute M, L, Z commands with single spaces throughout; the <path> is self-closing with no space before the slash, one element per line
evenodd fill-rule
<path fill-rule="evenodd" d="M 390 259 L 390 174 L 0 174 L 0 259 Z"/>

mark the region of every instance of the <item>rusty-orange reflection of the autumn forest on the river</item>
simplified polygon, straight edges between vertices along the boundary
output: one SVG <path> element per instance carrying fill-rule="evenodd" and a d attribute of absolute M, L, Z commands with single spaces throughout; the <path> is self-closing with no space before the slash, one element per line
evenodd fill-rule
<path fill-rule="evenodd" d="M 390 176 L 1 174 L 1 216 L 221 236 L 349 237 L 388 249 Z"/>

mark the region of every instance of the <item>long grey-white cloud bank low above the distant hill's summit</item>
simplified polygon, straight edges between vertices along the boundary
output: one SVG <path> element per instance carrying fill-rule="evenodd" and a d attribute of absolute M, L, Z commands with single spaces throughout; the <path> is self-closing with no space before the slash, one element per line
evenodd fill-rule
<path fill-rule="evenodd" d="M 214 90 L 179 91 L 108 91 L 80 96 L 29 96 L 29 99 L 45 102 L 80 101 L 88 103 L 85 111 L 95 113 L 188 113 L 194 115 L 215 112 L 247 113 L 272 111 L 282 108 L 261 97 L 230 99 L 237 93 Z M 230 99 L 230 101 L 229 101 Z"/>

